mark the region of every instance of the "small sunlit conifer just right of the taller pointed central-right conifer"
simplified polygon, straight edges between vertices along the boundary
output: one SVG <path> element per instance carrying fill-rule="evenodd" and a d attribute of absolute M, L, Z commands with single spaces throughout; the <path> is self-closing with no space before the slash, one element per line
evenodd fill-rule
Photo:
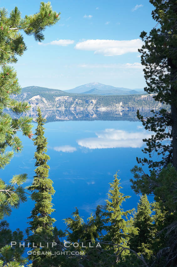
<path fill-rule="evenodd" d="M 151 217 L 151 213 L 151 205 L 148 201 L 147 195 L 142 195 L 137 206 L 137 211 L 133 216 L 133 226 L 138 228 L 138 234 L 132 235 L 129 240 L 130 248 L 136 252 L 143 253 L 144 245 L 152 242 L 153 219 Z"/>

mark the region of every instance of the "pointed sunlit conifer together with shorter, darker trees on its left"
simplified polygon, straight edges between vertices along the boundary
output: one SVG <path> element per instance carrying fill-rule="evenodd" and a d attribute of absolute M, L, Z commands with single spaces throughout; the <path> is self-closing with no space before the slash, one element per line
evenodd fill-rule
<path fill-rule="evenodd" d="M 131 236 L 138 234 L 138 228 L 133 226 L 133 218 L 130 217 L 134 209 L 124 211 L 122 208 L 122 203 L 130 196 L 124 196 L 121 188 L 116 173 L 110 183 L 106 204 L 98 205 L 87 223 L 80 217 L 77 208 L 73 218 L 65 219 L 67 242 L 77 242 L 79 246 L 76 249 L 82 252 L 79 256 L 69 257 L 72 266 L 118 266 L 130 255 L 128 242 Z M 143 257 L 137 256 L 141 263 Z"/>

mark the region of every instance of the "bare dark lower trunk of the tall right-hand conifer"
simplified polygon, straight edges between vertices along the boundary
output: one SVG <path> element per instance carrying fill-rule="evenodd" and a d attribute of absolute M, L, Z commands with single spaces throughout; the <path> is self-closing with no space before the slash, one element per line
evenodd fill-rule
<path fill-rule="evenodd" d="M 177 107 L 175 104 L 171 105 L 171 118 L 172 118 L 172 139 L 173 139 L 173 166 L 177 170 Z"/>

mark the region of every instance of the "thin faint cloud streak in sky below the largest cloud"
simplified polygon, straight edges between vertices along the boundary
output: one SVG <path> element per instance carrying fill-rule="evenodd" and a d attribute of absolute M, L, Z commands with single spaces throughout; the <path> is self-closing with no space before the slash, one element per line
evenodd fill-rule
<path fill-rule="evenodd" d="M 80 68 L 113 68 L 113 69 L 122 69 L 122 68 L 136 68 L 136 69 L 143 69 L 143 66 L 141 63 L 135 62 L 135 63 L 125 63 L 125 64 L 79 64 L 78 67 Z"/>

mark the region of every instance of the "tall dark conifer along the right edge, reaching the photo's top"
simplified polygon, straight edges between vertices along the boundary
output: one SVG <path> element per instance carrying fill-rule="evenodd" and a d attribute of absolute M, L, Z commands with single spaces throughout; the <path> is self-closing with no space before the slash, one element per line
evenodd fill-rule
<path fill-rule="evenodd" d="M 144 119 L 138 112 L 138 118 L 145 129 L 155 134 L 144 139 L 147 148 L 144 149 L 150 157 L 157 152 L 159 161 L 151 158 L 137 159 L 138 163 L 148 163 L 150 168 L 162 169 L 168 163 L 173 163 L 177 169 L 177 12 L 176 0 L 150 0 L 154 5 L 152 17 L 155 27 L 149 34 L 143 31 L 140 37 L 144 44 L 139 52 L 144 66 L 144 77 L 147 87 L 144 90 L 154 94 L 154 99 L 170 106 L 170 112 L 162 109 L 154 112 L 152 117 Z M 164 142 L 164 140 L 166 142 Z M 169 142 L 167 142 L 169 140 Z"/>

